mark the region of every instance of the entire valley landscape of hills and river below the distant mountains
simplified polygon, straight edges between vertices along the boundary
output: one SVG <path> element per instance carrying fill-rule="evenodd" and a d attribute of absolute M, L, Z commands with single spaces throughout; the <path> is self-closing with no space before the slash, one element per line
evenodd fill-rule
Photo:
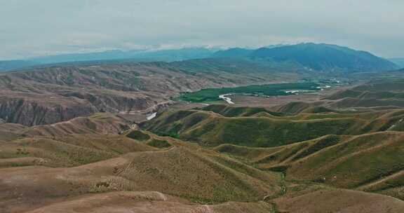
<path fill-rule="evenodd" d="M 332 70 L 213 57 L 1 73 L 0 212 L 403 212 L 403 71 Z"/>

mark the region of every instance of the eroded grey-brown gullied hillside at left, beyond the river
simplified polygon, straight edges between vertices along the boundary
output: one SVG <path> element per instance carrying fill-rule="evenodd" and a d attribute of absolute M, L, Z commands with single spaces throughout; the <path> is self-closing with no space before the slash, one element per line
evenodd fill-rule
<path fill-rule="evenodd" d="M 220 60 L 219 60 L 220 61 Z M 246 62 L 153 62 L 47 67 L 0 75 L 0 118 L 41 125 L 108 111 L 135 114 L 180 92 L 290 81 L 301 75 Z"/>

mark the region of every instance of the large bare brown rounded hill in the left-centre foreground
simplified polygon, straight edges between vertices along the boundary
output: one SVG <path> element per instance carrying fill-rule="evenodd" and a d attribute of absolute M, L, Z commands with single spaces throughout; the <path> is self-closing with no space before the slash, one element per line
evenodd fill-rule
<path fill-rule="evenodd" d="M 0 209 L 15 212 L 48 199 L 109 191 L 160 191 L 203 202 L 254 201 L 278 193 L 279 184 L 277 174 L 212 151 L 175 146 L 80 167 L 1 169 Z"/>

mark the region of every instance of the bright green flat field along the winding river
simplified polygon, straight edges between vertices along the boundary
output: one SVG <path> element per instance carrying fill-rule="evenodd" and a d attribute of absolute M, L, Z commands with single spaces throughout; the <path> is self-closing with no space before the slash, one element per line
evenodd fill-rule
<path fill-rule="evenodd" d="M 222 99 L 219 95 L 238 94 L 238 95 L 258 95 L 258 96 L 278 96 L 292 95 L 288 90 L 320 90 L 317 83 L 280 83 L 267 85 L 248 85 L 236 88 L 213 88 L 204 89 L 197 92 L 182 93 L 180 99 L 186 102 L 215 102 Z"/>

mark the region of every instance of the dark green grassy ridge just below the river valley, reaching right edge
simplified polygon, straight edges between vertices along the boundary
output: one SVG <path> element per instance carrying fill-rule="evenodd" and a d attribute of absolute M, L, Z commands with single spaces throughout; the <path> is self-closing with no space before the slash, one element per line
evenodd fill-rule
<path fill-rule="evenodd" d="M 202 110 L 169 111 L 142 124 L 145 130 L 199 142 L 206 146 L 235 144 L 273 147 L 324 135 L 361 135 L 401 130 L 403 110 L 279 113 L 267 109 L 209 106 Z"/>

